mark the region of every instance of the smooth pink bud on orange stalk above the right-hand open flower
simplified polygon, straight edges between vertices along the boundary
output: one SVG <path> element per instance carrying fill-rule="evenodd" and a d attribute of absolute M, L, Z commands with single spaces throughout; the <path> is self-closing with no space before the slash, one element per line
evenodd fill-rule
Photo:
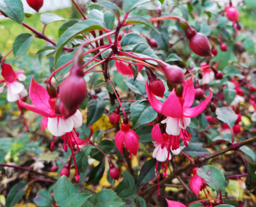
<path fill-rule="evenodd" d="M 180 67 L 169 65 L 163 61 L 159 61 L 158 64 L 164 71 L 165 77 L 170 83 L 182 84 L 185 82 L 185 77 Z"/>

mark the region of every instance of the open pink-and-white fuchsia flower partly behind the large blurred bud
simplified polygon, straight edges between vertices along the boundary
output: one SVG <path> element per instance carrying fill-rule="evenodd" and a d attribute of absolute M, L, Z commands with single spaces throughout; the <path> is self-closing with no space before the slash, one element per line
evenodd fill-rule
<path fill-rule="evenodd" d="M 77 166 L 75 162 L 75 156 L 73 148 L 76 145 L 78 151 L 80 148 L 77 143 L 77 135 L 73 132 L 75 128 L 78 128 L 82 125 L 82 115 L 79 110 L 75 112 L 74 115 L 65 119 L 62 115 L 59 115 L 56 112 L 55 101 L 57 98 L 51 98 L 47 93 L 47 90 L 38 84 L 32 77 L 30 88 L 29 88 L 30 99 L 34 106 L 26 104 L 21 99 L 19 99 L 20 106 L 33 111 L 37 114 L 44 116 L 41 123 L 41 130 L 44 131 L 46 125 L 48 126 L 49 132 L 56 137 L 61 137 L 63 139 L 63 149 L 67 152 L 68 146 L 71 149 L 72 156 L 76 168 L 76 180 L 79 180 L 79 175 L 77 171 Z M 58 111 L 58 110 L 57 110 Z M 51 148 L 54 147 L 54 140 L 51 144 Z"/>

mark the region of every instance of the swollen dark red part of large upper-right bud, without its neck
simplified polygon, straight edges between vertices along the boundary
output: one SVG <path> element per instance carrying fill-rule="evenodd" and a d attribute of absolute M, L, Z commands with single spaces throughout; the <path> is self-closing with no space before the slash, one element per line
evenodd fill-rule
<path fill-rule="evenodd" d="M 197 33 L 188 41 L 188 45 L 192 51 L 198 56 L 213 56 L 210 50 L 210 44 L 207 37 L 202 33 Z"/>

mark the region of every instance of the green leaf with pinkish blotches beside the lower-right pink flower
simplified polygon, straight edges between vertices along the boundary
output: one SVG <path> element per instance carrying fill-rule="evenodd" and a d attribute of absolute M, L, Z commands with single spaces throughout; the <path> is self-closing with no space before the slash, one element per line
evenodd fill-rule
<path fill-rule="evenodd" d="M 202 177 L 206 184 L 216 191 L 219 189 L 225 193 L 225 177 L 215 166 L 206 165 L 197 169 L 197 174 Z"/>

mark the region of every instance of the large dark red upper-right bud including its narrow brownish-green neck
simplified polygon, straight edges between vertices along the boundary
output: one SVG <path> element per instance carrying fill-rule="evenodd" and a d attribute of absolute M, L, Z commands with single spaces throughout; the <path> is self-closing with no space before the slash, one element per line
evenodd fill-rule
<path fill-rule="evenodd" d="M 204 34 L 198 33 L 184 19 L 179 20 L 180 27 L 185 32 L 188 39 L 188 45 L 195 54 L 202 57 L 213 56 L 210 50 L 210 44 Z"/>

